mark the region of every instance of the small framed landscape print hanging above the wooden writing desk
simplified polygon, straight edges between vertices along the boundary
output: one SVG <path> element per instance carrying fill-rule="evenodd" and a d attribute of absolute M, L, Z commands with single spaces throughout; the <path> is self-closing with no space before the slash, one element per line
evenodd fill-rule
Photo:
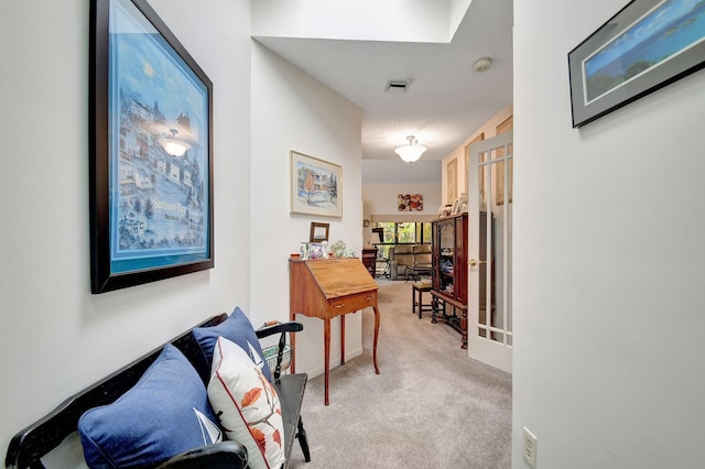
<path fill-rule="evenodd" d="M 343 167 L 290 152 L 291 212 L 343 217 Z"/>

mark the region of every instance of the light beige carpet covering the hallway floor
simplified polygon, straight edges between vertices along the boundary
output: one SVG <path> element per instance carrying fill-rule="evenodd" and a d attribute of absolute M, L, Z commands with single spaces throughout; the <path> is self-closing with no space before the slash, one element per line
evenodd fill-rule
<path fill-rule="evenodd" d="M 427 295 L 424 295 L 424 299 Z M 362 313 L 364 353 L 308 382 L 302 417 L 312 461 L 294 445 L 290 469 L 511 467 L 511 375 L 470 360 L 460 336 L 411 313 L 411 285 L 383 282 L 378 361 L 373 313 Z"/>

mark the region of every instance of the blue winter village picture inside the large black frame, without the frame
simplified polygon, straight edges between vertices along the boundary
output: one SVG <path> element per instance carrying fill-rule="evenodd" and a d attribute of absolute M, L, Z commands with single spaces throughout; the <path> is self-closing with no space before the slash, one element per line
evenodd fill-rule
<path fill-rule="evenodd" d="M 112 271 L 206 255 L 208 88 L 129 0 L 112 3 Z"/>

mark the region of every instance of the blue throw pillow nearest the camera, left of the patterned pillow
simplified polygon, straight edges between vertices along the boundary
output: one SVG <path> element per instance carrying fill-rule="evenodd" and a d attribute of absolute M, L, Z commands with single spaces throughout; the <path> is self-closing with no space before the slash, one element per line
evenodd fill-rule
<path fill-rule="evenodd" d="M 143 467 L 223 440 L 217 422 L 198 373 L 167 343 L 131 390 L 80 416 L 78 434 L 88 467 Z"/>

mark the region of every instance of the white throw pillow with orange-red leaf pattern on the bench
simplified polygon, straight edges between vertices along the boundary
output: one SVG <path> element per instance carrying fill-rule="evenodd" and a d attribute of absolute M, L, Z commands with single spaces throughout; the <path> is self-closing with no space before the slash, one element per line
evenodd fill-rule
<path fill-rule="evenodd" d="M 218 337 L 208 383 L 210 406 L 228 439 L 247 448 L 252 469 L 284 463 L 284 426 L 274 388 L 240 346 Z"/>

